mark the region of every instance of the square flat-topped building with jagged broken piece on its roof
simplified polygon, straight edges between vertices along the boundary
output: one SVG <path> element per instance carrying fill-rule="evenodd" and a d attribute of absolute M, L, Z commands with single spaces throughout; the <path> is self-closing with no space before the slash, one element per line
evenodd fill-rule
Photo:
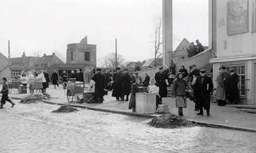
<path fill-rule="evenodd" d="M 67 44 L 66 63 L 96 67 L 96 45 L 88 44 L 87 36 L 80 43 Z"/>

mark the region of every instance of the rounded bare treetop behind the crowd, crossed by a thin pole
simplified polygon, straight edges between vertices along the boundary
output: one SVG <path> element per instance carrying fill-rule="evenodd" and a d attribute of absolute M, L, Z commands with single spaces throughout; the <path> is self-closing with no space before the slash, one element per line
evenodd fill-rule
<path fill-rule="evenodd" d="M 103 58 L 103 64 L 106 67 L 115 67 L 115 53 L 108 53 L 106 57 Z M 122 55 L 117 54 L 117 66 L 124 64 L 124 59 Z"/>

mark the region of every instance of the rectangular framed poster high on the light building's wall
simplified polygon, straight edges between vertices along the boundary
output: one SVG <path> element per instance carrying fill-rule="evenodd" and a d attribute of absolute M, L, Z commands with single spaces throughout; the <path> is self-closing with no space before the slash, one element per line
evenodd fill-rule
<path fill-rule="evenodd" d="M 227 1 L 227 34 L 248 32 L 248 0 Z"/>

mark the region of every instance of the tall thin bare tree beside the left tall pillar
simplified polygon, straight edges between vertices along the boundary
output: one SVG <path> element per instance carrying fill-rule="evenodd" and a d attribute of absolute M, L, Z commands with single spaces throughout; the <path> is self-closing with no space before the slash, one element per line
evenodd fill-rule
<path fill-rule="evenodd" d="M 160 53 L 160 46 L 162 45 L 163 41 L 161 39 L 162 33 L 162 18 L 158 18 L 156 22 L 156 29 L 155 29 L 155 59 L 154 59 L 154 67 L 156 67 L 156 56 Z"/>

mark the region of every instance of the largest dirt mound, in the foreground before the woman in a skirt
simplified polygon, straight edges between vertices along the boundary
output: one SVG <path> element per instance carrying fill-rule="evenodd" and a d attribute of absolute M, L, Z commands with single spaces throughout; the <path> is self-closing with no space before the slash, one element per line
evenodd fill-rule
<path fill-rule="evenodd" d="M 179 128 L 179 127 L 192 127 L 195 126 L 195 122 L 191 122 L 183 119 L 174 114 L 164 114 L 159 117 L 154 117 L 149 122 L 150 126 L 155 128 Z"/>

